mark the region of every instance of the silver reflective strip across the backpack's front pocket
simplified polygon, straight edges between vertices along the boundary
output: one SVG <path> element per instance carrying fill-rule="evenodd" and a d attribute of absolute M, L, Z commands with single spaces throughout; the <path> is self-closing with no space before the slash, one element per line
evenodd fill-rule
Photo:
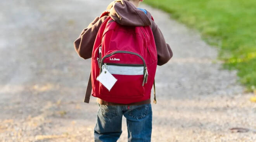
<path fill-rule="evenodd" d="M 143 75 L 144 66 L 114 66 L 107 65 L 109 73 L 119 75 Z"/>

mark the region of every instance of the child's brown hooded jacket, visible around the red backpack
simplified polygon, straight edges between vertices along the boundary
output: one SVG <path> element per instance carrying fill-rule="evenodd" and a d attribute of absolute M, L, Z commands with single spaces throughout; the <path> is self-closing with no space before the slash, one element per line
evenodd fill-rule
<path fill-rule="evenodd" d="M 164 36 L 156 23 L 151 19 L 151 14 L 147 11 L 137 9 L 132 3 L 126 0 L 116 0 L 112 2 L 107 10 L 110 10 L 110 16 L 118 24 L 127 26 L 150 26 L 154 35 L 157 49 L 157 65 L 161 66 L 167 63 L 173 56 L 173 52 L 169 44 L 166 44 Z M 108 16 L 96 17 L 86 29 L 82 31 L 78 39 L 74 41 L 74 48 L 78 55 L 83 59 L 89 59 L 92 57 L 93 44 L 99 30 L 100 25 L 107 19 Z M 100 98 L 97 98 L 97 102 L 101 105 L 124 105 L 117 103 L 110 103 Z M 128 105 L 142 105 L 150 103 L 150 99 L 132 103 Z M 126 104 L 127 105 L 127 104 Z"/>

